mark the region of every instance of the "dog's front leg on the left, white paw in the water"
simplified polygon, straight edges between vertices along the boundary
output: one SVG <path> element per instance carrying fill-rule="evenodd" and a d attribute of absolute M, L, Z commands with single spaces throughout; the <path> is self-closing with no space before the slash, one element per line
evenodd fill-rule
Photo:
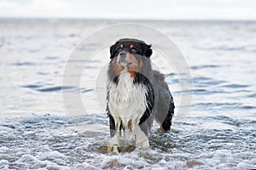
<path fill-rule="evenodd" d="M 120 129 L 119 123 L 115 123 L 113 116 L 109 115 L 109 128 L 110 128 L 110 136 L 111 139 L 108 143 L 108 152 L 119 153 L 119 139 L 120 139 Z"/>

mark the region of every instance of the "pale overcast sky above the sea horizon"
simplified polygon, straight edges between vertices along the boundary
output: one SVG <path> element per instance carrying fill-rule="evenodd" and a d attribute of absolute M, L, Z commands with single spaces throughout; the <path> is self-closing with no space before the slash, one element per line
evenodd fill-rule
<path fill-rule="evenodd" d="M 256 20 L 254 0 L 0 0 L 0 18 Z"/>

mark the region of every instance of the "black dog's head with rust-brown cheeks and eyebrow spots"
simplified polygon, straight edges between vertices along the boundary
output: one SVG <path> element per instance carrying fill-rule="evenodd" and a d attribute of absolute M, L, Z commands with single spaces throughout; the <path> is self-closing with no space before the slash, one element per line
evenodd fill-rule
<path fill-rule="evenodd" d="M 143 58 L 149 59 L 152 54 L 151 45 L 137 39 L 124 38 L 110 47 L 110 59 L 116 74 L 125 68 L 127 71 L 140 71 Z"/>

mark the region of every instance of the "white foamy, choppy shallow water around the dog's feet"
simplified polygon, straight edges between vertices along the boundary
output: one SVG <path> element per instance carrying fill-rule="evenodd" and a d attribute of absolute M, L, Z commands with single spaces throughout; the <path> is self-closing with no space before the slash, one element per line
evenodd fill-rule
<path fill-rule="evenodd" d="M 105 118 L 102 115 L 88 117 Z M 8 126 L 9 123 L 12 126 Z M 150 148 L 136 148 L 131 141 L 120 154 L 114 155 L 104 150 L 107 125 L 102 124 L 107 130 L 86 136 L 86 131 L 84 135 L 78 133 L 65 117 L 34 116 L 9 123 L 0 126 L 2 169 L 255 168 L 255 145 L 242 144 L 250 139 L 241 133 L 237 133 L 236 139 L 229 139 L 229 134 L 211 129 L 189 134 L 187 128 L 193 128 L 191 125 L 174 128 L 172 133 L 161 133 L 154 126 Z"/>

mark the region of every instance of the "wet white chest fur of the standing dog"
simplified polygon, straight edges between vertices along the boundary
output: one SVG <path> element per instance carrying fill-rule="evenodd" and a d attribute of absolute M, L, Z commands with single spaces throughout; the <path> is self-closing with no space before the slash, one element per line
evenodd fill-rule
<path fill-rule="evenodd" d="M 119 82 L 108 82 L 108 109 L 116 127 L 134 130 L 147 107 L 147 88 L 142 83 L 133 83 L 127 71 L 119 75 Z"/>

